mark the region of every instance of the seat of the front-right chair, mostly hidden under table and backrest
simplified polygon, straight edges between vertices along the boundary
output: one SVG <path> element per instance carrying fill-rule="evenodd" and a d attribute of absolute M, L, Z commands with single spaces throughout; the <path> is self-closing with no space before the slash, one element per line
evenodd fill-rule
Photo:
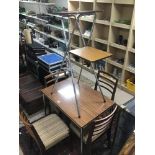
<path fill-rule="evenodd" d="M 72 129 L 72 131 L 80 138 L 80 129 L 75 126 L 74 124 L 70 124 L 70 128 Z M 83 142 L 86 144 L 87 143 L 87 139 L 88 139 L 88 128 L 86 127 L 83 131 Z M 99 135 L 96 135 L 96 136 L 93 136 L 92 137 L 92 141 L 95 141 L 98 137 L 100 137 L 102 135 L 99 134 Z"/>

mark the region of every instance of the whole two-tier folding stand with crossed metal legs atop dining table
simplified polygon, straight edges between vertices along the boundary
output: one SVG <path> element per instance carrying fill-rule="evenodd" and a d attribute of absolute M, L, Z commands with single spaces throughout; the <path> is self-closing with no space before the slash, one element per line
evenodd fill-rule
<path fill-rule="evenodd" d="M 93 73 L 95 75 L 97 83 L 98 83 L 98 80 L 97 80 L 96 73 L 94 71 L 93 63 L 98 61 L 98 60 L 110 57 L 112 55 L 111 53 L 104 52 L 104 51 L 101 51 L 101 50 L 98 50 L 98 49 L 86 46 L 86 42 L 85 42 L 85 40 L 84 40 L 84 38 L 82 36 L 82 32 L 81 32 L 81 28 L 80 28 L 80 24 L 79 24 L 80 17 L 86 16 L 86 15 L 87 16 L 90 16 L 90 15 L 94 16 L 93 24 L 92 24 L 91 31 L 90 31 L 90 36 L 89 36 L 89 39 L 88 39 L 88 44 L 89 44 L 89 41 L 90 41 L 90 38 L 91 38 L 91 35 L 92 35 L 92 32 L 93 32 L 94 21 L 96 19 L 96 13 L 97 12 L 101 12 L 101 11 L 72 11 L 72 12 L 53 13 L 55 15 L 61 15 L 62 18 L 63 17 L 70 17 L 70 18 L 74 18 L 75 19 L 75 25 L 73 26 L 73 30 L 72 30 L 72 32 L 70 34 L 69 42 L 67 42 L 67 40 L 65 39 L 66 40 L 67 50 L 66 50 L 66 52 L 64 54 L 63 62 L 61 63 L 61 67 L 60 67 L 60 70 L 58 72 L 58 76 L 56 78 L 55 84 L 57 83 L 57 81 L 59 79 L 59 73 L 60 73 L 61 69 L 63 69 L 63 63 L 66 60 L 68 62 L 68 69 L 69 69 L 69 71 L 71 73 L 71 78 L 72 78 L 73 90 L 74 90 L 74 94 L 75 94 L 75 101 L 76 101 L 78 117 L 80 117 L 80 111 L 79 111 L 79 107 L 78 107 L 78 100 L 77 100 L 75 84 L 74 84 L 74 80 L 73 80 L 73 70 L 72 70 L 71 61 L 70 61 L 70 59 L 71 59 L 70 58 L 70 54 L 76 55 L 76 56 L 78 56 L 78 57 L 80 57 L 80 58 L 90 62 L 91 68 L 92 68 L 92 71 L 93 71 Z M 77 30 L 80 33 L 80 37 L 82 39 L 82 43 L 83 43 L 84 47 L 80 48 L 80 49 L 76 49 L 76 50 L 70 50 L 70 44 L 71 44 L 71 40 L 72 40 L 72 36 L 74 34 L 74 31 L 75 31 L 75 28 L 77 28 Z M 65 36 L 65 33 L 64 33 L 64 36 Z M 80 80 L 81 72 L 82 72 L 82 66 L 81 66 L 78 82 Z M 53 90 L 54 90 L 54 86 L 53 86 Z M 100 85 L 99 85 L 99 88 L 100 88 Z M 103 96 L 103 100 L 105 102 L 105 98 L 104 98 L 104 95 L 102 93 L 101 88 L 100 88 L 100 92 L 101 92 L 101 94 Z"/>

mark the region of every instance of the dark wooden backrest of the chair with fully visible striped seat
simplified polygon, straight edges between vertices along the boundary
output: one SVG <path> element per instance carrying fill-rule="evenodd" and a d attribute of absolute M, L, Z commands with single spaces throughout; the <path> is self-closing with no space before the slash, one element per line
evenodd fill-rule
<path fill-rule="evenodd" d="M 20 111 L 19 111 L 19 118 L 22 121 L 22 123 L 24 124 L 24 126 L 25 126 L 27 132 L 29 133 L 29 135 L 37 143 L 39 149 L 40 150 L 45 150 L 45 146 L 44 146 L 43 142 L 41 141 L 37 131 L 35 130 L 33 125 L 29 122 L 27 116 L 25 115 L 24 111 L 21 108 L 20 108 Z"/>

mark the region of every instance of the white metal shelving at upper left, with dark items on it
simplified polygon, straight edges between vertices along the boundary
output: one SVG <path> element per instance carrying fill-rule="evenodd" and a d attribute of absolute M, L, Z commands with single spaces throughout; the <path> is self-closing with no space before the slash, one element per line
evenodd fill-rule
<path fill-rule="evenodd" d="M 42 3 L 42 2 L 36 2 L 36 1 L 19 1 L 19 6 L 25 9 L 25 12 L 19 13 L 19 15 L 22 15 L 25 17 L 24 21 L 20 21 L 19 24 L 23 25 L 26 28 L 33 28 L 33 32 L 35 32 L 35 38 L 34 41 L 39 43 L 40 45 L 44 46 L 47 52 L 55 52 L 60 55 L 64 55 L 65 50 L 65 40 L 64 37 L 56 36 L 56 31 L 59 31 L 63 36 L 63 25 L 62 25 L 62 16 L 59 15 L 53 15 L 47 12 L 48 8 L 51 8 L 54 6 L 55 3 L 53 3 L 53 0 L 50 0 L 49 3 Z M 34 15 L 29 15 L 28 12 L 32 11 L 34 12 Z M 60 24 L 51 24 L 49 22 L 49 19 L 47 20 L 39 18 L 37 14 L 44 14 L 47 17 L 55 18 L 59 20 Z M 68 18 L 64 18 L 66 22 L 68 22 Z M 30 21 L 30 22 L 27 22 Z M 26 21 L 26 22 L 25 22 Z M 38 28 L 38 25 L 41 25 L 42 27 L 46 27 L 49 29 L 49 32 L 44 32 L 44 28 Z M 66 26 L 66 25 L 65 25 Z M 43 29 L 43 30 L 42 30 Z M 67 36 L 67 39 L 69 37 L 69 30 L 67 27 L 65 27 L 65 33 Z M 45 40 L 53 39 L 55 42 L 58 43 L 58 47 L 53 48 L 47 43 L 45 43 Z"/>

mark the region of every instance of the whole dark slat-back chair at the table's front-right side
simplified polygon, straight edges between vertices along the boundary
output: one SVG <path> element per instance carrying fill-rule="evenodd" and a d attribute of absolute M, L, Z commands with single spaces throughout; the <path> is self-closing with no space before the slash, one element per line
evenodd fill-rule
<path fill-rule="evenodd" d="M 87 155 L 91 155 L 92 145 L 99 138 L 107 134 L 108 146 L 111 146 L 111 128 L 114 114 L 117 110 L 117 105 L 114 104 L 110 109 L 107 109 L 102 115 L 98 116 L 83 132 L 83 143 L 86 144 Z M 72 131 L 80 138 L 80 130 L 75 125 L 70 124 Z"/>

